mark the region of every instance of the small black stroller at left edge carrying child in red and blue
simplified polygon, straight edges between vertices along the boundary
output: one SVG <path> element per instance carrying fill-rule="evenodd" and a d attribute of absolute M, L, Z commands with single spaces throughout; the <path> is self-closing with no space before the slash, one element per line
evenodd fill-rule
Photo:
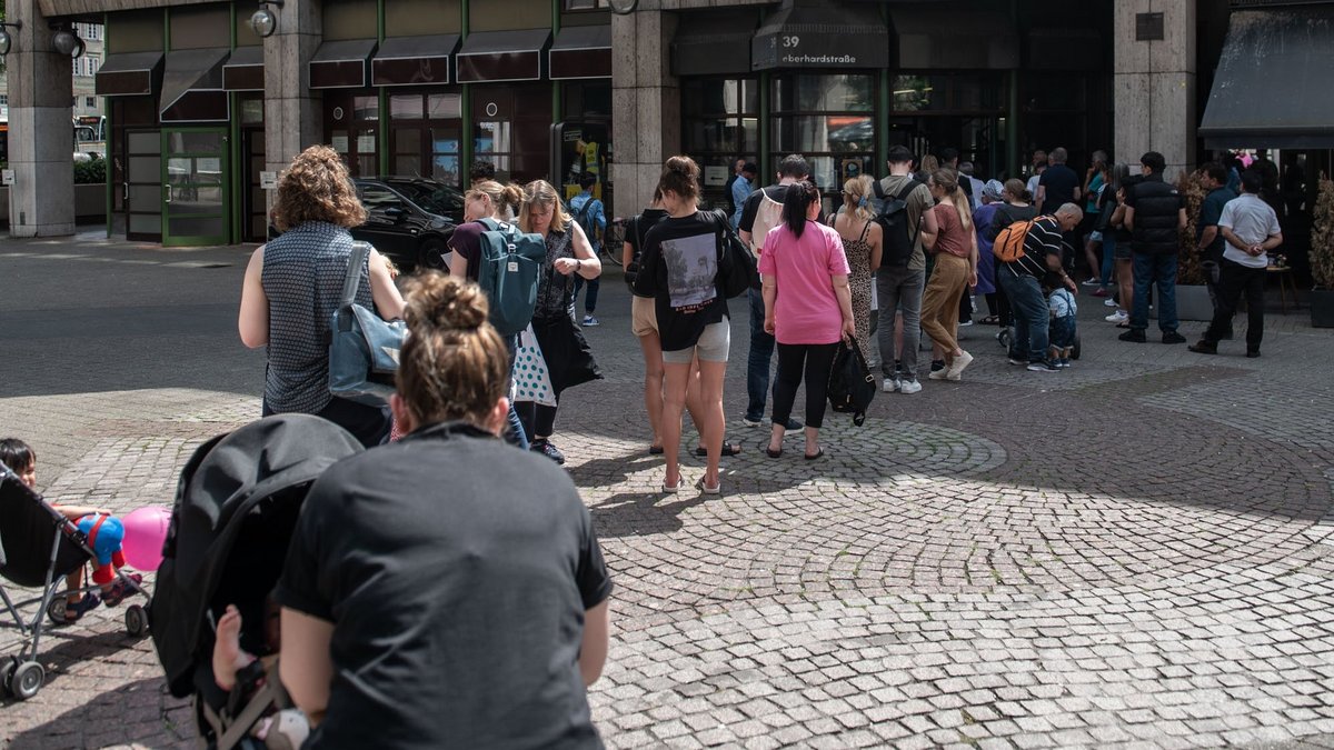
<path fill-rule="evenodd" d="M 27 589 L 37 589 L 40 595 L 15 602 L 0 585 L 0 602 L 19 627 L 19 653 L 0 658 L 0 689 L 20 701 L 27 701 L 47 682 L 47 670 L 37 661 L 41 645 L 41 615 L 64 625 L 65 577 L 79 570 L 96 554 L 81 531 L 59 511 L 47 504 L 41 495 L 23 483 L 4 464 L 0 464 L 0 578 Z M 144 590 L 132 578 L 116 573 L 135 594 Z M 99 586 L 85 586 L 80 593 L 96 591 Z M 147 594 L 145 594 L 147 595 Z M 24 609 L 33 609 L 31 621 L 24 621 Z M 125 630 L 143 635 L 148 630 L 148 617 L 140 605 L 125 607 Z"/>

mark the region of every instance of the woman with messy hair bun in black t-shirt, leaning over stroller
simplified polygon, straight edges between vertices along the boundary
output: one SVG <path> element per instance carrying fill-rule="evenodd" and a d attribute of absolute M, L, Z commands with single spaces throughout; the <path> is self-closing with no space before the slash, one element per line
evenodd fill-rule
<path fill-rule="evenodd" d="M 301 507 L 276 599 L 307 750 L 602 747 L 586 686 L 611 581 L 563 470 L 506 447 L 504 342 L 476 284 L 428 271 L 391 398 L 400 442 Z"/>

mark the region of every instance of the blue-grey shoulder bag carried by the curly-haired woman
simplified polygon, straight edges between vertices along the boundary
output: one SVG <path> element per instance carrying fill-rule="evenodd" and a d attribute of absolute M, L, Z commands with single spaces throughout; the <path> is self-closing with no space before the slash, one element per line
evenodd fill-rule
<path fill-rule="evenodd" d="M 352 302 L 370 252 L 370 244 L 355 242 L 347 259 L 343 295 L 329 322 L 329 392 L 362 404 L 383 406 L 394 394 L 399 351 L 408 336 L 408 324 L 384 320 L 374 310 Z"/>

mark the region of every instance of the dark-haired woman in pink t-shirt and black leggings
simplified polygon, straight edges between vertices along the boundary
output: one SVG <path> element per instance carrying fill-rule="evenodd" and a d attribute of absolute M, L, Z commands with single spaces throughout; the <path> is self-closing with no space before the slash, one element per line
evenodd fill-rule
<path fill-rule="evenodd" d="M 759 259 L 764 279 L 764 331 L 778 340 L 774 382 L 774 427 L 764 450 L 783 455 L 783 434 L 792 415 L 796 387 L 806 376 L 806 458 L 820 448 L 824 396 L 840 340 L 855 335 L 847 255 L 838 232 L 815 219 L 820 191 L 807 180 L 788 185 L 783 223 L 770 230 Z"/>

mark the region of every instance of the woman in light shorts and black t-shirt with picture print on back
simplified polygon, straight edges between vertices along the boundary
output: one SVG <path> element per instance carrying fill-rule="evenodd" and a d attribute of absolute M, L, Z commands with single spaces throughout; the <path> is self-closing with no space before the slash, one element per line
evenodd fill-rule
<path fill-rule="evenodd" d="M 667 160 L 658 190 L 667 218 L 644 238 L 635 292 L 654 298 L 662 339 L 667 380 L 662 416 L 667 459 L 663 492 L 680 488 L 680 415 L 686 407 L 691 362 L 698 358 L 702 416 L 698 427 L 708 456 L 699 488 L 716 495 L 722 491 L 718 463 L 723 450 L 723 378 L 731 343 L 727 300 L 718 290 L 719 224 L 724 219 L 698 210 L 699 165 L 688 156 Z"/>

